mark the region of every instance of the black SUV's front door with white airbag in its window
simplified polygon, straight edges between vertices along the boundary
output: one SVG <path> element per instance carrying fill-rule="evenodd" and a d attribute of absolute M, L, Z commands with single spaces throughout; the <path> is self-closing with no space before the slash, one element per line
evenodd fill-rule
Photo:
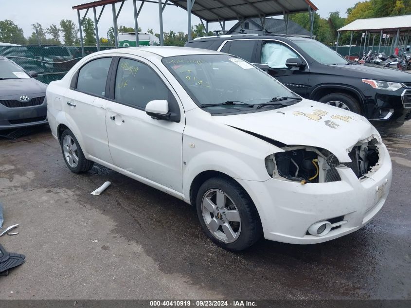
<path fill-rule="evenodd" d="M 308 89 L 309 68 L 286 67 L 289 58 L 301 58 L 292 48 L 280 41 L 260 41 L 257 64 L 291 91 L 305 97 Z M 304 59 L 301 59 L 304 63 Z"/>

